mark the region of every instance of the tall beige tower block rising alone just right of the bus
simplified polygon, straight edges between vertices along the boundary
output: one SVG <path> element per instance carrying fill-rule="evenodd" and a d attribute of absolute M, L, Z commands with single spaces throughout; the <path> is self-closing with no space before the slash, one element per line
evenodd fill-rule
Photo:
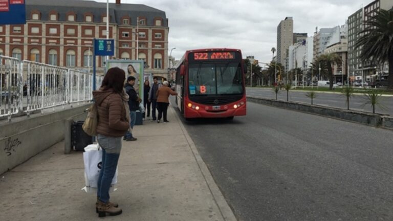
<path fill-rule="evenodd" d="M 293 19 L 286 17 L 277 26 L 277 62 L 286 63 L 288 49 L 293 44 Z"/>

